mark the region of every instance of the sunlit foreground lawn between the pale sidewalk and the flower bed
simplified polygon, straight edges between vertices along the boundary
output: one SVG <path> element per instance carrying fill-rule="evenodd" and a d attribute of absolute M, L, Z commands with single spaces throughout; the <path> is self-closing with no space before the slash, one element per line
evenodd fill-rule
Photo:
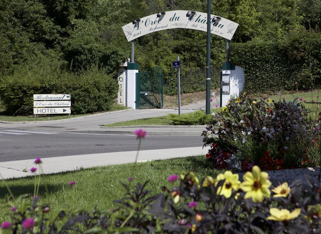
<path fill-rule="evenodd" d="M 43 167 L 45 168 L 46 165 L 43 164 Z M 124 197 L 125 189 L 120 183 L 128 183 L 128 177 L 133 177 L 134 183 L 144 183 L 146 180 L 150 180 L 147 189 L 152 190 L 152 194 L 155 195 L 161 193 L 161 186 L 173 186 L 167 181 L 170 174 L 180 175 L 181 171 L 191 170 L 200 180 L 205 175 L 216 177 L 218 173 L 222 172 L 210 167 L 205 156 L 191 156 L 141 162 L 137 163 L 135 168 L 134 163 L 127 163 L 41 175 L 41 184 L 48 186 L 49 195 L 46 196 L 44 186 L 40 186 L 39 199 L 41 203 L 50 202 L 52 211 L 61 207 L 66 209 L 73 207 L 93 208 L 95 205 L 110 209 L 114 207 L 113 200 Z M 71 180 L 76 182 L 75 191 L 69 185 Z M 33 193 L 33 176 L 8 179 L 6 183 L 15 197 Z M 175 185 L 178 184 L 178 182 L 175 183 Z M 4 181 L 0 181 L 0 197 L 3 198 L 6 194 L 8 192 L 4 187 Z M 4 212 L 1 213 L 0 220 L 3 220 Z"/>

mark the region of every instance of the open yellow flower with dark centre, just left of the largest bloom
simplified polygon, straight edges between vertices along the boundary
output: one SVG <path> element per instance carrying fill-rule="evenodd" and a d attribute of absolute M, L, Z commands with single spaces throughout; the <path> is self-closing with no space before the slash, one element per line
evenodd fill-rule
<path fill-rule="evenodd" d="M 229 198 L 232 194 L 232 188 L 234 191 L 239 189 L 241 182 L 239 181 L 239 175 L 233 174 L 231 171 L 225 171 L 224 174 L 219 174 L 216 177 L 215 186 L 217 186 L 220 180 L 224 180 L 224 184 L 217 189 L 218 195 L 223 195 L 226 198 Z"/>

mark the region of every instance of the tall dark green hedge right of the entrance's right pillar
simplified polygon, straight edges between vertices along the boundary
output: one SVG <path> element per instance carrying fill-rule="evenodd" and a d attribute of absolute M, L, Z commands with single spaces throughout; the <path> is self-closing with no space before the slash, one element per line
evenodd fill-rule
<path fill-rule="evenodd" d="M 247 93 L 296 90 L 295 82 L 307 90 L 320 85 L 320 51 L 320 33 L 302 29 L 281 41 L 231 43 L 230 61 L 244 68 Z"/>

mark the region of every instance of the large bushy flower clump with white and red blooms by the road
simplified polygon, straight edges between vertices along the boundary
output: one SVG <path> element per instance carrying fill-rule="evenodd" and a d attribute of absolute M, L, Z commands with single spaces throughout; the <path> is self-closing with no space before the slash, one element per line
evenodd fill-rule
<path fill-rule="evenodd" d="M 236 170 L 319 165 L 319 124 L 308 112 L 297 99 L 232 100 L 203 132 L 204 145 L 211 145 L 206 156 L 217 168 L 230 164 Z"/>

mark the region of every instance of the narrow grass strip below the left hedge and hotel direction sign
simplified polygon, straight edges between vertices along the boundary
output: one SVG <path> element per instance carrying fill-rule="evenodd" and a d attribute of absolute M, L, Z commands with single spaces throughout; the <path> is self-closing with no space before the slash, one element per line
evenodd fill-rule
<path fill-rule="evenodd" d="M 125 106 L 118 106 L 114 105 L 111 106 L 109 111 L 116 111 L 116 110 L 124 110 L 128 109 Z M 93 114 L 98 114 L 102 112 L 96 112 L 96 113 L 91 113 L 91 114 L 79 114 L 79 115 L 74 115 L 70 114 L 67 115 L 52 115 L 52 116 L 38 116 L 35 118 L 34 115 L 30 116 L 11 116 L 11 115 L 4 115 L 4 109 L 0 109 L 0 120 L 2 121 L 9 121 L 9 122 L 24 122 L 24 121 L 47 121 L 47 120 L 58 120 L 58 119 L 69 119 L 69 118 L 74 118 L 74 117 L 81 117 L 81 116 L 86 116 L 86 115 L 93 115 Z"/>

